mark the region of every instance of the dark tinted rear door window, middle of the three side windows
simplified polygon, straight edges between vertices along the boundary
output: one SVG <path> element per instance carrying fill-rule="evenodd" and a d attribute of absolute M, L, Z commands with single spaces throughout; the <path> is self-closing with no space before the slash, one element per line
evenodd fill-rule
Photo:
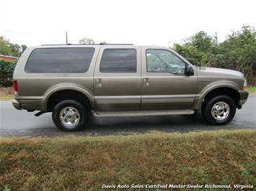
<path fill-rule="evenodd" d="M 136 73 L 136 50 L 106 49 L 100 62 L 102 73 Z"/>

